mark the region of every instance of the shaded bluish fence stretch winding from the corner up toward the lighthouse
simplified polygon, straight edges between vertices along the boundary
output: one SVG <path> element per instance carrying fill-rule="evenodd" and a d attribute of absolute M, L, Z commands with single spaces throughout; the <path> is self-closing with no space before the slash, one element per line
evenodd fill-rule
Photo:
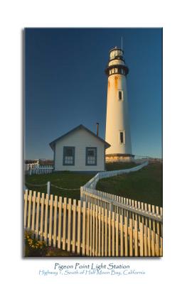
<path fill-rule="evenodd" d="M 141 165 L 137 165 L 134 168 L 128 168 L 124 170 L 109 170 L 107 172 L 97 173 L 97 175 L 95 175 L 91 180 L 89 180 L 85 185 L 83 185 L 83 187 L 85 187 L 85 189 L 91 188 L 95 190 L 97 182 L 101 180 L 102 178 L 110 178 L 110 177 L 114 177 L 115 175 L 122 175 L 123 173 L 135 172 L 137 170 L 140 170 L 141 168 L 144 168 L 148 164 L 149 164 L 149 161 L 146 160 L 144 163 L 141 163 Z"/>

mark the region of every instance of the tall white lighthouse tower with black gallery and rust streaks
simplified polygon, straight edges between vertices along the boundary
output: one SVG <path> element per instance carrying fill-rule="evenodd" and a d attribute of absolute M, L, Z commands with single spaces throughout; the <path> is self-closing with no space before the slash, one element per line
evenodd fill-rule
<path fill-rule="evenodd" d="M 124 52 L 121 48 L 109 50 L 109 62 L 105 73 L 107 84 L 107 118 L 105 140 L 111 145 L 107 148 L 106 162 L 130 161 L 132 155 L 129 111 L 127 98 L 127 74 Z"/>

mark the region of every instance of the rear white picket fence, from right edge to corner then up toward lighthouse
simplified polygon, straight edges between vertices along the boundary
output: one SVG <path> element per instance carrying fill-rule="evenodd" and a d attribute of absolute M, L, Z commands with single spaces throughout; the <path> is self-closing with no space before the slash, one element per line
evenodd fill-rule
<path fill-rule="evenodd" d="M 97 173 L 95 177 L 89 180 L 84 186 L 80 187 L 80 200 L 82 200 L 82 202 L 95 204 L 110 212 L 130 217 L 133 220 L 136 219 L 143 224 L 146 222 L 146 224 L 149 224 L 150 229 L 153 229 L 159 236 L 162 236 L 162 207 L 95 190 L 97 182 L 100 179 L 121 175 L 123 173 L 131 173 L 144 168 L 148 163 L 149 162 L 146 160 L 144 163 L 134 168 Z"/>

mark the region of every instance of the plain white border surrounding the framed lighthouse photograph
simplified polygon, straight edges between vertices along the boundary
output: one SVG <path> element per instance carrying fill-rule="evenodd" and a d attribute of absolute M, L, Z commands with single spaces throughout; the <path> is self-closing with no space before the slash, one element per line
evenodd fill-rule
<path fill-rule="evenodd" d="M 78 260 L 21 258 L 21 155 L 23 67 L 21 29 L 23 27 L 164 27 L 164 257 L 161 259 L 119 258 L 117 263 L 130 264 L 144 269 L 146 275 L 137 278 L 80 278 L 81 283 L 184 283 L 186 279 L 186 246 L 181 235 L 186 236 L 186 1 L 119 1 L 119 16 L 111 9 L 112 1 L 100 1 L 100 7 L 91 1 L 2 1 L 1 2 L 1 282 L 25 281 L 62 283 L 64 278 L 40 278 L 39 268 L 50 268 L 55 261 L 73 263 L 97 262 L 97 259 Z M 118 9 L 115 6 L 115 9 Z M 97 21 L 95 15 L 97 14 Z M 173 128 L 176 135 L 173 141 Z M 14 143 L 13 143 L 14 141 Z M 176 148 L 173 149 L 173 145 Z M 10 160 L 18 165 L 11 173 Z M 6 198 L 9 198 L 7 210 Z M 5 214 L 6 212 L 6 214 Z M 14 212 L 14 220 L 11 222 Z M 172 223 L 176 226 L 173 229 Z M 9 246 L 11 244 L 11 246 Z M 175 249 L 171 249 L 175 244 Z M 10 249 L 11 248 L 11 249 Z M 114 259 L 109 259 L 114 261 Z M 75 279 L 78 279 L 76 276 Z M 74 278 L 66 278 L 71 283 Z"/>

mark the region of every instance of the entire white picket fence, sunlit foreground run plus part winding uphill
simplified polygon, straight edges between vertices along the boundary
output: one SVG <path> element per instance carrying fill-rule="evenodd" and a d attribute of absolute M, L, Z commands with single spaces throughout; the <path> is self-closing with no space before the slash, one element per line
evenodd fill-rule
<path fill-rule="evenodd" d="M 48 246 L 82 256 L 162 256 L 162 207 L 95 190 L 101 178 L 148 163 L 97 173 L 80 187 L 80 200 L 25 190 L 24 228 Z"/>

